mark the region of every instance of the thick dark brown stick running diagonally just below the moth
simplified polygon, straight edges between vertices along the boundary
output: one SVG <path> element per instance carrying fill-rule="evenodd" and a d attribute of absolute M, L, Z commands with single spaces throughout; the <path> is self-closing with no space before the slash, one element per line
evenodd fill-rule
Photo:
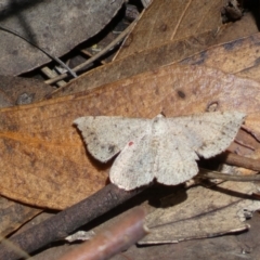
<path fill-rule="evenodd" d="M 10 238 L 10 242 L 28 253 L 32 252 L 53 240 L 67 236 L 79 226 L 125 203 L 143 190 L 126 192 L 114 184 L 108 184 L 82 202 Z M 0 259 L 16 260 L 20 258 L 21 256 L 12 248 L 0 246 Z"/>

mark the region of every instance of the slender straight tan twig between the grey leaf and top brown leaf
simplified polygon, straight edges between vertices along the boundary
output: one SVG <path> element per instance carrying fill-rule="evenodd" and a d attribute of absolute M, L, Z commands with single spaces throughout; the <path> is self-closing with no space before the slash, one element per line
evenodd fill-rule
<path fill-rule="evenodd" d="M 100 58 L 101 56 L 103 56 L 105 53 L 107 53 L 108 51 L 110 51 L 115 46 L 117 46 L 119 42 L 121 42 L 123 40 L 123 38 L 133 29 L 133 27 L 135 26 L 138 22 L 138 18 L 132 22 L 115 40 L 113 40 L 107 47 L 105 47 L 102 51 L 100 51 L 99 53 L 96 53 L 95 55 L 93 55 L 92 57 L 90 57 L 88 61 L 86 61 L 84 63 L 76 66 L 75 68 L 73 68 L 74 72 L 78 72 L 81 68 L 88 66 L 89 64 L 91 64 L 92 62 L 96 61 L 98 58 Z M 64 79 L 66 78 L 67 75 L 66 74 L 62 74 L 55 78 L 52 79 L 48 79 L 44 82 L 48 84 L 54 83 L 57 80 Z"/>

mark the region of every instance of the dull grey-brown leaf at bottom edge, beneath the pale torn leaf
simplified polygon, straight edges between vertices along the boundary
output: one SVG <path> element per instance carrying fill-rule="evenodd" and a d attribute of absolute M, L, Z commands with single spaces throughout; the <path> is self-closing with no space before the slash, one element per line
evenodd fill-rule
<path fill-rule="evenodd" d="M 259 220 L 259 219 L 258 219 Z M 258 226 L 257 226 L 258 227 Z M 250 232 L 248 233 L 250 234 Z M 169 260 L 169 259 L 258 259 L 259 240 L 249 244 L 244 239 L 244 243 L 237 240 L 237 236 L 225 235 L 223 237 L 205 238 L 188 240 L 185 243 L 159 245 L 150 247 L 132 246 L 129 250 L 121 252 L 112 258 L 112 260 Z M 250 252 L 253 252 L 252 257 Z"/>

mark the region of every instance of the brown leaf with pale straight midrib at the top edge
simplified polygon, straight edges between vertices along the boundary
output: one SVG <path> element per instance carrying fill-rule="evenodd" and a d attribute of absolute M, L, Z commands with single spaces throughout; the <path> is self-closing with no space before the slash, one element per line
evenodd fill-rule
<path fill-rule="evenodd" d="M 219 42 L 235 40 L 258 31 L 251 14 L 223 26 L 223 0 L 154 0 L 125 41 L 117 58 L 159 47 L 165 42 L 179 41 L 191 36 L 196 38 L 208 30 L 216 30 Z"/>

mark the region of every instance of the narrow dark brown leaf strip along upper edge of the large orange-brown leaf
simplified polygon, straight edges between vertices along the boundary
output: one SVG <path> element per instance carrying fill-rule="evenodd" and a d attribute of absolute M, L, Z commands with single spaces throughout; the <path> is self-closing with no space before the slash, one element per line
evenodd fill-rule
<path fill-rule="evenodd" d="M 168 42 L 158 48 L 134 53 L 126 58 L 116 60 L 83 74 L 77 80 L 73 80 L 64 88 L 54 91 L 50 96 L 56 98 L 93 89 L 118 79 L 157 69 L 174 61 L 181 61 L 213 44 L 216 32 L 216 30 L 206 31 L 196 37 L 191 36 L 184 40 Z"/>

